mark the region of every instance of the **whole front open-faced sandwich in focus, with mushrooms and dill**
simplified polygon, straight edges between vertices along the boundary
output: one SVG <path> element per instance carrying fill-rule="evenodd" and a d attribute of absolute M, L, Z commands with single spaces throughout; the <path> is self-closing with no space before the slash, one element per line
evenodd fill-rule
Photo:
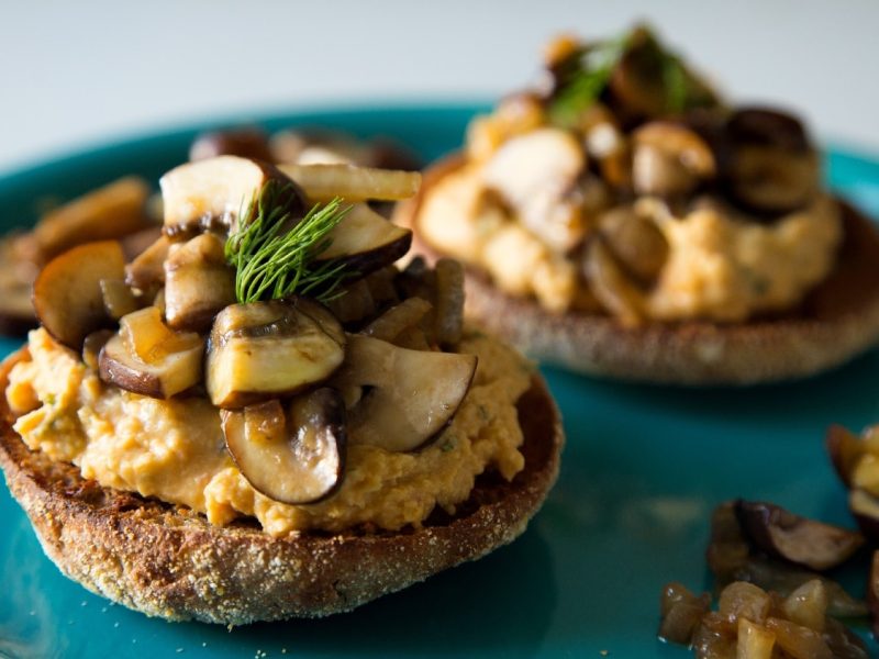
<path fill-rule="evenodd" d="M 89 590 L 223 624 L 351 610 L 521 534 L 555 481 L 533 367 L 463 324 L 463 271 L 393 264 L 366 200 L 420 176 L 220 156 L 163 235 L 41 271 L 0 380 L 0 465 Z"/>

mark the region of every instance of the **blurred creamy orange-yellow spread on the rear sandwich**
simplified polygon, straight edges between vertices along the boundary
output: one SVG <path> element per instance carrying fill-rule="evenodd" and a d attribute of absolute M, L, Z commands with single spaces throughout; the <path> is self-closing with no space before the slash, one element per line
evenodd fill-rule
<path fill-rule="evenodd" d="M 547 245 L 515 214 L 485 202 L 480 165 L 468 164 L 436 181 L 419 212 L 419 231 L 444 254 L 475 266 L 511 295 L 533 295 L 547 311 L 575 309 L 581 280 L 577 261 Z M 674 216 L 659 199 L 636 210 L 656 224 L 668 257 L 644 291 L 648 319 L 741 322 L 795 306 L 834 267 L 842 221 L 826 194 L 795 212 L 757 223 L 728 206 L 710 204 Z M 590 223 L 600 224 L 600 217 Z"/>

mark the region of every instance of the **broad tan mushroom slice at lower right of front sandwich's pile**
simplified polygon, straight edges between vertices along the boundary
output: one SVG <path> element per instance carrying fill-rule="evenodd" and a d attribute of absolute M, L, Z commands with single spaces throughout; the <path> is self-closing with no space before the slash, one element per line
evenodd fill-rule
<path fill-rule="evenodd" d="M 368 336 L 348 337 L 333 386 L 348 401 L 348 439 L 409 451 L 435 437 L 457 412 L 476 372 L 475 355 L 410 350 Z"/>

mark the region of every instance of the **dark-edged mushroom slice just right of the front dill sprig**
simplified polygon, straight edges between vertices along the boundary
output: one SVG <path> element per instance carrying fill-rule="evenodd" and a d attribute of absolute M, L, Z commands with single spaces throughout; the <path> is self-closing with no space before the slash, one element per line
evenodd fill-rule
<path fill-rule="evenodd" d="M 327 238 L 330 247 L 319 260 L 337 259 L 360 276 L 392 264 L 412 245 L 410 230 L 389 222 L 363 203 L 354 204 Z"/>

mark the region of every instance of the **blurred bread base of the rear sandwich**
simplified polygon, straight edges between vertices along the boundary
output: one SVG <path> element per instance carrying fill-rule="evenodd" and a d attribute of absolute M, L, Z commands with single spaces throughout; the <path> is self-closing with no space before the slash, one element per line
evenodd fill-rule
<path fill-rule="evenodd" d="M 413 253 L 438 255 L 418 235 L 421 200 L 433 181 L 460 165 L 449 158 L 425 175 L 416 198 L 394 220 L 415 230 Z M 746 323 L 646 323 L 624 327 L 605 315 L 554 314 L 530 298 L 498 290 L 472 268 L 466 313 L 531 356 L 576 371 L 622 380 L 688 386 L 754 384 L 827 370 L 879 342 L 879 231 L 839 201 L 845 238 L 838 264 L 797 310 Z"/>

